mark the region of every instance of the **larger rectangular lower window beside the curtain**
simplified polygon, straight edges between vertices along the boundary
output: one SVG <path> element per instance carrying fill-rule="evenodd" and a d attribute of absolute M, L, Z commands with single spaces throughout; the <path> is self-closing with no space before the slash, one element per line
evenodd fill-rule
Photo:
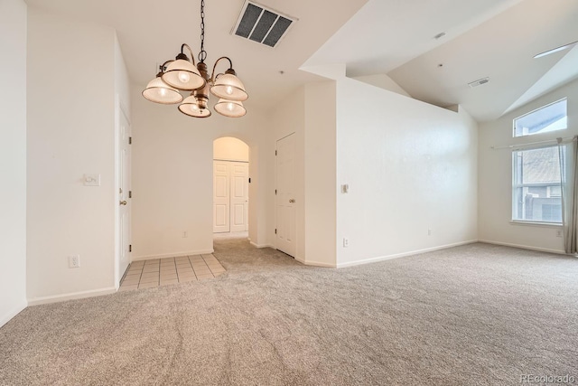
<path fill-rule="evenodd" d="M 558 146 L 514 151 L 512 157 L 512 220 L 562 222 Z"/>

